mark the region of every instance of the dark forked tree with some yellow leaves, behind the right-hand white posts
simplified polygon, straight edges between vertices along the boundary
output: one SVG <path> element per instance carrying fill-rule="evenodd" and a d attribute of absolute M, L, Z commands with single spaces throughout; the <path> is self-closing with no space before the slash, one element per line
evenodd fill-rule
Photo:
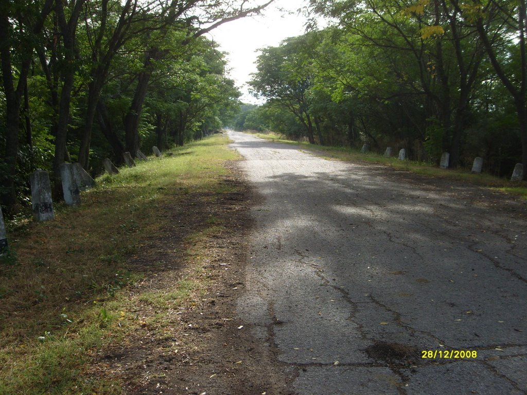
<path fill-rule="evenodd" d="M 418 76 L 415 92 L 427 100 L 428 139 L 438 127 L 443 130 L 451 167 L 457 166 L 483 47 L 452 2 L 311 0 L 311 6 L 315 12 L 338 18 L 346 31 L 364 38 L 364 45 L 413 56 Z"/>

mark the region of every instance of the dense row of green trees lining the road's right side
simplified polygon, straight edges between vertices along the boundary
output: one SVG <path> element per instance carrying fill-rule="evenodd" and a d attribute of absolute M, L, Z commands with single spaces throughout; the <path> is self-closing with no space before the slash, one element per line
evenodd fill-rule
<path fill-rule="evenodd" d="M 238 127 L 527 170 L 524 0 L 310 0 L 310 11 L 333 26 L 262 50 L 250 85 L 266 104 Z"/>

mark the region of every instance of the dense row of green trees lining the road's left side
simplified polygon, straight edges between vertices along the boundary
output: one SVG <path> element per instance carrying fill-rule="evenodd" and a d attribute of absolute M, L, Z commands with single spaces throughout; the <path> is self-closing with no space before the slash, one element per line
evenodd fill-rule
<path fill-rule="evenodd" d="M 0 2 L 0 202 L 27 199 L 28 174 L 78 161 L 97 173 L 152 145 L 183 145 L 231 116 L 239 92 L 213 28 L 271 1 Z"/>

